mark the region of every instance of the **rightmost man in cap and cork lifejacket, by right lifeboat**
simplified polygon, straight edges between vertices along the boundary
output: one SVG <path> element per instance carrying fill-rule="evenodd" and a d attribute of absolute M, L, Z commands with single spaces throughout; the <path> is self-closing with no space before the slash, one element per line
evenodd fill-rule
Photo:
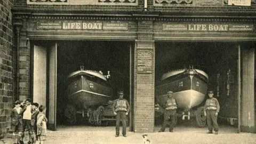
<path fill-rule="evenodd" d="M 220 111 L 220 105 L 217 99 L 213 98 L 213 91 L 208 91 L 209 99 L 206 100 L 204 105 L 204 115 L 207 118 L 207 125 L 209 132 L 213 133 L 212 127 L 215 134 L 218 134 L 219 126 L 217 123 L 218 113 Z"/>

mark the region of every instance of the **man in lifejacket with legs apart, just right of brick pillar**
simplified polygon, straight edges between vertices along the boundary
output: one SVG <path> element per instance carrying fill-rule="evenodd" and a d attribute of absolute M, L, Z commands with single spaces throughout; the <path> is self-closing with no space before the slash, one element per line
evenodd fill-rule
<path fill-rule="evenodd" d="M 161 130 L 159 132 L 164 132 L 165 127 L 168 123 L 169 117 L 171 119 L 171 123 L 170 123 L 170 132 L 173 132 L 174 126 L 177 122 L 177 103 L 175 101 L 175 99 L 173 98 L 173 92 L 169 91 L 167 92 L 167 101 L 165 103 L 165 113 L 164 113 L 164 123 L 161 127 Z"/>

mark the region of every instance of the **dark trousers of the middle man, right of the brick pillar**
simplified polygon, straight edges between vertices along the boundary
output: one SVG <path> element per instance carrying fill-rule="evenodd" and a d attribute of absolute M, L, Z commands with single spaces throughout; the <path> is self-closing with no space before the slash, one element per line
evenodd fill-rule
<path fill-rule="evenodd" d="M 169 121 L 169 117 L 171 119 L 171 123 L 170 123 L 170 129 L 169 130 L 173 130 L 175 124 L 176 124 L 176 121 L 177 121 L 177 115 L 176 115 L 176 109 L 170 109 L 170 110 L 165 110 L 165 113 L 164 113 L 164 123 L 161 127 L 161 131 L 164 132 L 165 130 L 165 127 Z"/>

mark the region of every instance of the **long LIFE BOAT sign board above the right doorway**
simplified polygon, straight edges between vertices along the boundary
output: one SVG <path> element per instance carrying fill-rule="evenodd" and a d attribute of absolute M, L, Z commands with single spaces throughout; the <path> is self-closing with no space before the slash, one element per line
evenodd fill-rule
<path fill-rule="evenodd" d="M 163 24 L 163 31 L 253 31 L 247 24 Z"/>

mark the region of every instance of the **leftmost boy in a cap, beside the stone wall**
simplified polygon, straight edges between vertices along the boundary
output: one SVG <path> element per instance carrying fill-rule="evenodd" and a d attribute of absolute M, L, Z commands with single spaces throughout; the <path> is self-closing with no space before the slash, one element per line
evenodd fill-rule
<path fill-rule="evenodd" d="M 22 134 L 22 108 L 20 107 L 20 101 L 15 101 L 15 107 L 11 111 L 11 126 L 14 135 L 14 144 L 18 144 L 20 142 L 21 134 Z"/>

